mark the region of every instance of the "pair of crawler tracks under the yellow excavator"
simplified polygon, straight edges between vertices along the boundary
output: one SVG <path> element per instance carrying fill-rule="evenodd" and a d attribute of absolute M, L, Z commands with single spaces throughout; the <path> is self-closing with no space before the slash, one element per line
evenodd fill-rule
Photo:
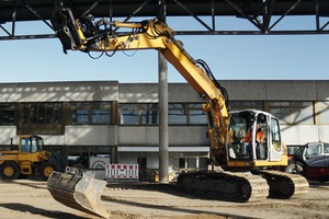
<path fill-rule="evenodd" d="M 184 173 L 179 175 L 177 184 L 193 194 L 238 203 L 260 201 L 265 198 L 298 198 L 309 188 L 304 176 L 279 171 L 258 171 L 257 174 Z"/>

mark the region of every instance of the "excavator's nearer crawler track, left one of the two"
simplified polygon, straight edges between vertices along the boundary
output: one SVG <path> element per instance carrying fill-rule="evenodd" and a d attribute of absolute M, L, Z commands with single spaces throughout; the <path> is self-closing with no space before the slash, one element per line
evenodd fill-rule
<path fill-rule="evenodd" d="M 195 172 L 180 174 L 178 186 L 214 199 L 259 201 L 269 196 L 266 181 L 260 175 L 231 172 Z"/>

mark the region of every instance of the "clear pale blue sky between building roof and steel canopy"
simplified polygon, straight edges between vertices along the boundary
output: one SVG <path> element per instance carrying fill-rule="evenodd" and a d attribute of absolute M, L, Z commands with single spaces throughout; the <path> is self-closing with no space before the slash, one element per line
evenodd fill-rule
<path fill-rule="evenodd" d="M 136 20 L 134 20 L 136 21 Z M 216 21 L 220 28 L 249 28 L 247 21 Z M 231 22 L 231 23 L 230 23 Z M 202 27 L 188 19 L 169 19 L 173 30 Z M 10 24 L 7 24 L 10 25 Z M 29 24 L 30 25 L 30 24 Z M 43 23 L 18 24 L 16 34 L 52 33 Z M 281 30 L 315 27 L 314 18 L 282 22 Z M 21 31 L 22 30 L 22 31 Z M 32 31 L 31 31 L 32 30 Z M 1 30 L 0 30 L 1 31 Z M 21 31 L 21 33 L 20 33 Z M 30 31 L 30 32 L 29 32 Z M 1 35 L 3 33 L 0 32 Z M 217 80 L 329 80 L 329 35 L 177 36 L 195 59 L 205 60 Z M 0 41 L 1 82 L 117 80 L 158 82 L 156 50 L 118 51 L 93 60 L 81 51 L 61 50 L 59 39 Z M 169 82 L 185 82 L 169 67 Z"/>

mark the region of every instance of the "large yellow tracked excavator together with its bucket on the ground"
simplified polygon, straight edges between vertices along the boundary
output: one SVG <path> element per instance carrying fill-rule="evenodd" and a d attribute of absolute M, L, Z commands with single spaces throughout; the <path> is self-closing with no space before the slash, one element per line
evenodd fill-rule
<path fill-rule="evenodd" d="M 121 50 L 156 49 L 185 78 L 204 99 L 209 139 L 208 171 L 181 173 L 177 185 L 191 192 L 230 201 L 259 201 L 268 197 L 292 198 L 308 192 L 308 182 L 297 174 L 280 171 L 287 165 L 279 120 L 273 115 L 243 110 L 228 112 L 228 95 L 206 62 L 192 58 L 159 20 L 141 22 L 95 21 L 91 15 L 73 16 L 69 8 L 56 9 L 50 18 L 64 51 L 99 51 L 113 56 Z M 118 32 L 118 28 L 128 32 Z M 111 53 L 110 53 L 111 51 Z M 256 140 L 263 132 L 261 145 Z M 242 142 L 249 131 L 249 142 Z M 260 146 L 262 146 L 260 148 Z M 222 170 L 217 171 L 216 166 Z M 81 170 L 67 168 L 53 172 L 47 187 L 55 199 L 102 217 L 101 191 L 105 183 Z"/>

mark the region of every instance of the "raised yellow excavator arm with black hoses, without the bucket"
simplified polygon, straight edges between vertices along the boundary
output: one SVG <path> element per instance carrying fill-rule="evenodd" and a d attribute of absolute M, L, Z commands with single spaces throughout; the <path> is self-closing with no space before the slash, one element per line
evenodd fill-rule
<path fill-rule="evenodd" d="M 120 22 L 110 24 L 105 19 L 93 22 L 92 16 L 75 20 L 70 9 L 58 9 L 52 23 L 61 41 L 64 50 L 99 51 L 112 56 L 118 50 L 156 49 L 182 74 L 182 77 L 206 100 L 203 111 L 207 113 L 211 141 L 211 159 L 225 162 L 225 142 L 228 129 L 227 92 L 216 81 L 203 60 L 195 60 L 174 38 L 174 32 L 163 22 Z M 114 30 L 127 28 L 127 33 Z M 112 54 L 109 54 L 112 51 Z"/>

